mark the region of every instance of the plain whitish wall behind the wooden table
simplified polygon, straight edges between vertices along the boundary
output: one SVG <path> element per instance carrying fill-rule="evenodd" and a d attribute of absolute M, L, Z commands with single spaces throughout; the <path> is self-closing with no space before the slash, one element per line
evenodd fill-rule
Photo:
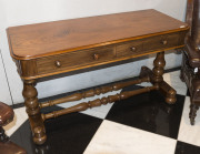
<path fill-rule="evenodd" d="M 3 16 L 0 18 L 0 49 L 6 64 L 13 102 L 23 102 L 21 95 L 22 81 L 9 54 L 6 34 L 8 27 L 152 8 L 179 20 L 183 20 L 186 0 L 0 0 L 0 14 Z M 152 60 L 146 59 L 103 70 L 41 82 L 37 84 L 39 97 L 133 76 L 138 74 L 140 66 L 143 64 L 152 68 Z M 179 66 L 181 55 L 170 53 L 167 55 L 167 69 Z"/>

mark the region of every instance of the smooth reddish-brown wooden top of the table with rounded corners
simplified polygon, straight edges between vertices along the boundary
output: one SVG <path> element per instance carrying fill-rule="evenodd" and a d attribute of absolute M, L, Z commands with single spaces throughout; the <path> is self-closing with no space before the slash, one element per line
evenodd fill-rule
<path fill-rule="evenodd" d="M 156 10 L 61 20 L 7 29 L 12 58 L 29 60 L 189 29 Z"/>

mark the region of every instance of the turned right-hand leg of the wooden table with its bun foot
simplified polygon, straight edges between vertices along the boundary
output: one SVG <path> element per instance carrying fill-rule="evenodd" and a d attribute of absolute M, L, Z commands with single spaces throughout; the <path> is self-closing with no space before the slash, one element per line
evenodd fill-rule
<path fill-rule="evenodd" d="M 163 81 L 163 72 L 164 72 L 164 52 L 157 53 L 157 58 L 153 61 L 153 74 L 152 74 L 152 83 L 157 85 L 158 90 L 166 96 L 166 102 L 168 104 L 176 103 L 176 90 L 171 88 L 167 82 Z"/>

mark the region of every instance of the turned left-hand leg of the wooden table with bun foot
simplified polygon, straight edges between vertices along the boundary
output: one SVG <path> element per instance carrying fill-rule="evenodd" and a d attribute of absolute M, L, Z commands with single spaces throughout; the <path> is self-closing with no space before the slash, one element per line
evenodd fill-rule
<path fill-rule="evenodd" d="M 29 115 L 29 122 L 33 135 L 33 142 L 36 144 L 43 144 L 47 140 L 46 129 L 40 113 L 40 107 L 38 103 L 38 92 L 34 88 L 34 80 L 23 81 L 23 97 L 27 107 L 27 113 Z"/>

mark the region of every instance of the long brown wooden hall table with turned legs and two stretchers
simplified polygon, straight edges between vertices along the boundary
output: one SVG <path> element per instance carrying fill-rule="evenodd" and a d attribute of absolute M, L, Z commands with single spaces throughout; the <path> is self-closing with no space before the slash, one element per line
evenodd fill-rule
<path fill-rule="evenodd" d="M 24 104 L 36 144 L 47 140 L 44 120 L 87 110 L 129 96 L 159 90 L 167 103 L 176 102 L 176 91 L 162 78 L 164 50 L 182 48 L 189 27 L 156 10 L 62 20 L 8 28 L 10 53 L 23 80 Z M 36 80 L 81 69 L 120 62 L 157 53 L 154 68 L 142 66 L 138 80 L 116 83 L 39 103 Z M 152 86 L 81 103 L 69 109 L 41 114 L 40 109 L 76 101 L 127 85 L 151 82 Z"/>

